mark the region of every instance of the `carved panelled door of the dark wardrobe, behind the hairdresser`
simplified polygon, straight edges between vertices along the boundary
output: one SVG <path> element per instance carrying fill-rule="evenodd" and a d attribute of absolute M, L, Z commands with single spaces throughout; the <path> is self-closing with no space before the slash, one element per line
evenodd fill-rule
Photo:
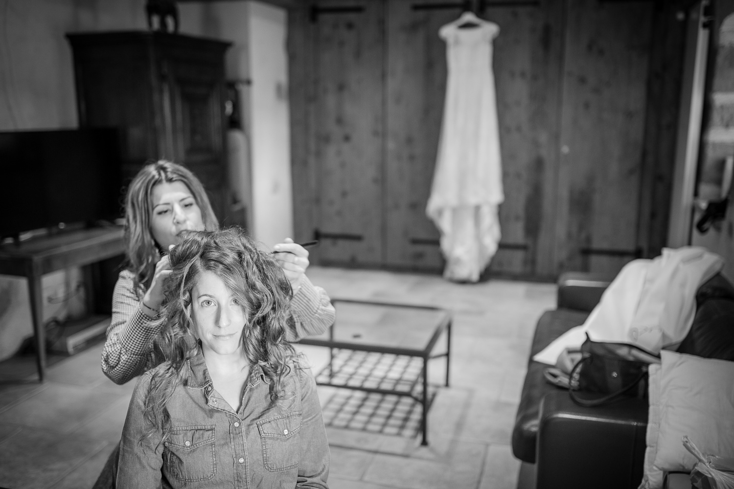
<path fill-rule="evenodd" d="M 228 204 L 225 166 L 223 58 L 162 60 L 167 146 L 206 188 L 221 222 Z"/>

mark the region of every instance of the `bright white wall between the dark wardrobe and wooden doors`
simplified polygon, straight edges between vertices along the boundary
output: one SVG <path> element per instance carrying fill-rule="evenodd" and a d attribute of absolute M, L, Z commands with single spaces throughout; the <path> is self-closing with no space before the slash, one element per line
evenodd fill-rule
<path fill-rule="evenodd" d="M 235 190 L 251 202 L 252 236 L 267 246 L 280 243 L 293 235 L 287 12 L 259 1 L 186 2 L 178 8 L 181 32 L 233 43 L 227 54 L 227 77 L 251 81 L 240 86 L 242 144 L 249 146 L 249 152 L 237 152 L 233 163 L 239 168 L 230 174 L 239 186 Z"/>

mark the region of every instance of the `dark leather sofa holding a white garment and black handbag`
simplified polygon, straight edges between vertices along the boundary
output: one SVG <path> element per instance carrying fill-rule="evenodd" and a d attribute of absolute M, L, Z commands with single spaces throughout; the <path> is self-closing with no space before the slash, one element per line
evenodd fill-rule
<path fill-rule="evenodd" d="M 583 408 L 568 391 L 545 381 L 532 357 L 565 331 L 584 323 L 610 277 L 564 273 L 557 308 L 540 317 L 512 431 L 512 452 L 535 464 L 535 487 L 637 488 L 642 480 L 647 399 L 627 397 Z M 734 361 L 734 286 L 716 275 L 697 291 L 694 324 L 678 351 Z"/>

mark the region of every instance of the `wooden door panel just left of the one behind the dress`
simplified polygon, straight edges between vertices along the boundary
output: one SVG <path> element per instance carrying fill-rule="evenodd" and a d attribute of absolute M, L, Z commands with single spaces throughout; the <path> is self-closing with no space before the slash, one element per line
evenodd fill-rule
<path fill-rule="evenodd" d="M 326 264 L 382 265 L 381 1 L 311 10 L 316 229 Z"/>

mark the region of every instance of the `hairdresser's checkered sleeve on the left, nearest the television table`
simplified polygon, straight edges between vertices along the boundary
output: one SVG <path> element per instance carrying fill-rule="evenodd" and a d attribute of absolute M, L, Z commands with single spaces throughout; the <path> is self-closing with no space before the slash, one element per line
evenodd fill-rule
<path fill-rule="evenodd" d="M 135 290 L 130 271 L 120 272 L 112 296 L 112 322 L 102 350 L 102 371 L 115 383 L 123 384 L 153 367 L 153 338 L 160 326 L 155 312 L 142 305 L 145 290 Z"/>

